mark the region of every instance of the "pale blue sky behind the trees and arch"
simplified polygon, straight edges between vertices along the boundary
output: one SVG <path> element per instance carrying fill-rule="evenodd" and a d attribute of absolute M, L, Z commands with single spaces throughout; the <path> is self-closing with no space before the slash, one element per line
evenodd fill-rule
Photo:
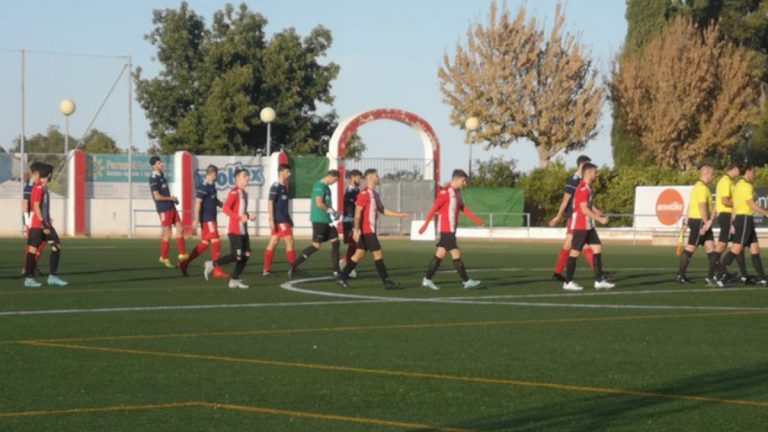
<path fill-rule="evenodd" d="M 450 107 L 443 103 L 437 70 L 443 55 L 465 40 L 467 29 L 486 20 L 491 0 L 262 0 L 246 2 L 268 21 L 267 34 L 294 27 L 306 35 L 317 25 L 329 28 L 333 45 L 322 61 L 341 66 L 333 82 L 334 108 L 341 119 L 375 108 L 400 108 L 427 120 L 442 145 L 443 172 L 465 168 L 469 146 L 464 132 L 451 125 Z M 557 0 L 508 0 L 510 9 L 525 6 L 529 14 L 550 24 Z M 154 9 L 177 8 L 177 1 L 93 0 L 4 1 L 0 3 L 0 146 L 6 149 L 21 133 L 21 54 L 25 54 L 27 136 L 50 125 L 64 129 L 58 102 L 71 98 L 77 111 L 69 120 L 71 135 L 82 136 L 92 124 L 115 138 L 121 147 L 129 139 L 129 81 L 127 56 L 142 75 L 153 77 L 160 65 L 155 48 L 144 39 L 152 30 Z M 210 22 L 226 4 L 189 1 Z M 566 26 L 587 45 L 601 76 L 621 48 L 626 33 L 623 0 L 562 2 Z M 62 55 L 79 53 L 87 55 Z M 99 55 L 103 57 L 94 57 Z M 122 73 L 122 75 L 121 75 Z M 114 89 L 110 89 L 114 86 Z M 135 93 L 134 93 L 135 96 Z M 101 111 L 99 112 L 100 106 Z M 98 115 L 97 115 L 98 112 Z M 137 103 L 133 117 L 134 146 L 149 144 L 149 123 Z M 279 116 L 279 113 L 278 113 Z M 599 135 L 584 153 L 598 164 L 612 165 L 610 106 L 606 103 Z M 368 144 L 366 157 L 420 158 L 418 136 L 399 123 L 380 121 L 361 128 Z M 530 142 L 507 149 L 474 147 L 474 158 L 515 159 L 519 169 L 537 165 Z M 569 165 L 581 154 L 561 154 Z"/>

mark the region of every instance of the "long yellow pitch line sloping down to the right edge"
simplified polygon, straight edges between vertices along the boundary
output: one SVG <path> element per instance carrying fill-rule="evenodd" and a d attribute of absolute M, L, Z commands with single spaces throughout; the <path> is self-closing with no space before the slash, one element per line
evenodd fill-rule
<path fill-rule="evenodd" d="M 768 401 L 720 399 L 720 398 L 713 398 L 713 397 L 706 397 L 706 396 L 675 395 L 675 394 L 653 393 L 653 392 L 643 392 L 643 391 L 634 391 L 634 390 L 621 390 L 621 389 L 606 388 L 606 387 L 575 386 L 575 385 L 565 385 L 565 384 L 536 382 L 536 381 L 521 381 L 521 380 L 510 380 L 510 379 L 500 379 L 500 378 L 444 375 L 444 374 L 433 374 L 433 373 L 425 373 L 425 372 L 397 371 L 397 370 L 388 370 L 388 369 L 370 369 L 370 368 L 335 366 L 335 365 L 325 365 L 325 364 L 315 364 L 315 363 L 297 363 L 297 362 L 285 362 L 285 361 L 278 361 L 278 360 L 223 357 L 223 356 L 212 356 L 212 355 L 205 355 L 205 354 L 186 354 L 186 353 L 174 353 L 174 352 L 163 352 L 163 351 L 144 351 L 144 350 L 125 349 L 125 348 L 106 348 L 106 347 L 94 347 L 94 346 L 85 346 L 85 345 L 68 345 L 68 344 L 48 343 L 48 342 L 24 342 L 24 344 L 31 345 L 31 346 L 62 348 L 62 349 L 79 350 L 79 351 L 96 351 L 96 352 L 105 352 L 105 353 L 178 358 L 178 359 L 187 359 L 187 360 L 205 360 L 205 361 L 225 362 L 225 363 L 323 370 L 323 371 L 331 371 L 331 372 L 349 372 L 349 373 L 368 374 L 368 375 L 392 376 L 392 377 L 400 377 L 400 378 L 416 378 L 416 379 L 427 379 L 427 380 L 437 380 L 437 381 L 467 382 L 467 383 L 474 383 L 474 384 L 494 384 L 494 385 L 508 385 L 508 386 L 516 386 L 516 387 L 545 388 L 545 389 L 568 391 L 568 392 L 598 393 L 598 394 L 612 395 L 612 396 L 659 398 L 659 399 L 671 399 L 671 400 L 679 400 L 679 401 L 720 403 L 720 404 L 728 404 L 728 405 L 743 405 L 743 406 L 752 406 L 752 407 L 758 407 L 758 408 L 768 408 Z"/>

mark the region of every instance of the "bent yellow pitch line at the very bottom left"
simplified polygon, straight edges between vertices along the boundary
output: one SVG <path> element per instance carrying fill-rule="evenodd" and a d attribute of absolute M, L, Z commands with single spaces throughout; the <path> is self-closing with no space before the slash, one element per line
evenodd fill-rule
<path fill-rule="evenodd" d="M 440 432 L 474 432 L 469 429 L 459 429 L 445 426 L 434 426 L 424 423 L 410 423 L 395 420 L 382 420 L 365 417 L 349 417 L 336 414 L 320 414 L 311 413 L 305 411 L 294 410 L 282 410 L 275 408 L 255 407 L 249 405 L 235 405 L 216 402 L 178 402 L 167 404 L 143 404 L 143 405 L 115 405 L 108 407 L 97 408 L 69 408 L 60 410 L 41 410 L 41 411 L 22 411 L 22 412 L 9 412 L 0 413 L 0 419 L 3 418 L 18 418 L 18 417 L 43 417 L 65 414 L 94 414 L 94 413 L 113 413 L 113 412 L 126 412 L 126 411 L 142 411 L 142 410 L 160 410 L 160 409 L 178 409 L 178 408 L 207 408 L 207 409 L 219 409 L 227 411 L 237 411 L 245 413 L 267 414 L 276 416 L 287 416 L 297 418 L 307 418 L 313 420 L 325 420 L 335 421 L 343 423 L 355 423 L 372 426 L 386 426 L 399 429 L 419 429 L 419 430 L 431 430 Z"/>

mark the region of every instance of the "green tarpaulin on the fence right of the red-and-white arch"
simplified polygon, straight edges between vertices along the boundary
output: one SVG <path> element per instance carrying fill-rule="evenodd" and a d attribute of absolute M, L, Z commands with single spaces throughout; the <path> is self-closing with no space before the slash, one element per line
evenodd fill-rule
<path fill-rule="evenodd" d="M 493 213 L 494 227 L 525 226 L 525 193 L 522 189 L 514 188 L 466 188 L 461 191 L 464 204 L 491 226 Z M 515 213 L 510 215 L 509 213 Z M 474 227 L 475 224 L 466 217 L 459 218 L 460 227 Z"/>

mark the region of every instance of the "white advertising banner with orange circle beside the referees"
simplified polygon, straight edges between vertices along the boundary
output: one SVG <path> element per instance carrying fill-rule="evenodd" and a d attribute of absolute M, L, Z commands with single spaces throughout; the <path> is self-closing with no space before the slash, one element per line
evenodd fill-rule
<path fill-rule="evenodd" d="M 635 228 L 675 228 L 688 211 L 693 186 L 635 188 Z"/>

